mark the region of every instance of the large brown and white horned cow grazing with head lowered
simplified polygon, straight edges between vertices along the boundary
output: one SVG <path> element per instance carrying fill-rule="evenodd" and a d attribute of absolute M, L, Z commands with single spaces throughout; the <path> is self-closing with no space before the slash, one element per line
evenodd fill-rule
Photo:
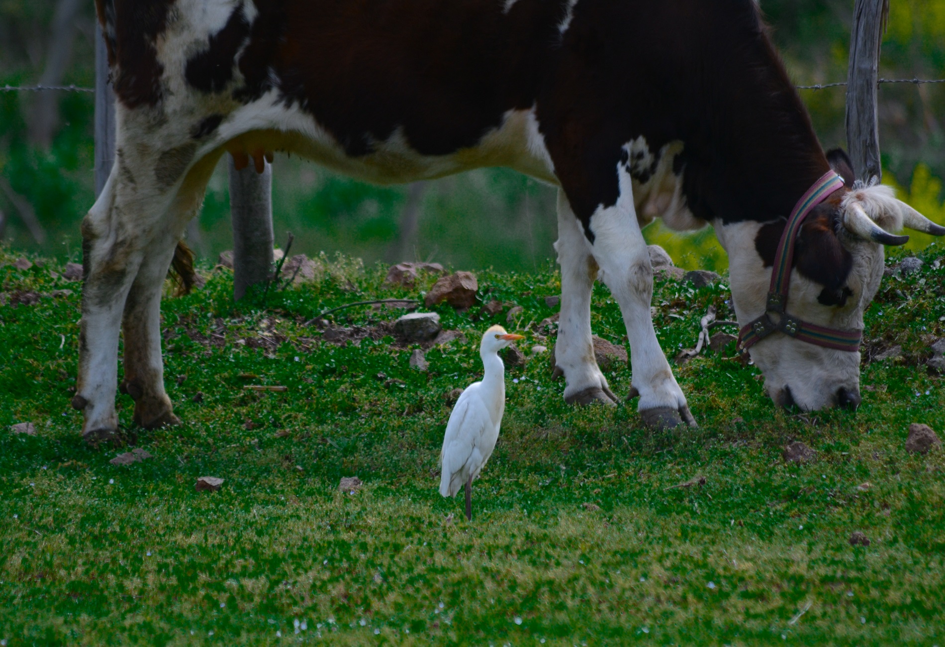
<path fill-rule="evenodd" d="M 112 437 L 119 328 L 134 421 L 177 422 L 160 298 L 220 156 L 295 152 L 370 182 L 508 166 L 558 191 L 556 357 L 569 402 L 616 400 L 591 343 L 595 278 L 619 303 L 647 424 L 695 424 L 650 319 L 641 227 L 711 223 L 739 322 L 765 313 L 785 219 L 829 169 L 752 0 L 97 0 L 117 96 L 112 174 L 82 223 L 77 395 Z M 848 185 L 791 239 L 787 312 L 863 328 L 885 229 L 945 233 Z M 185 260 L 180 258 L 179 260 Z M 786 289 L 786 288 L 785 288 Z M 859 401 L 859 353 L 787 334 L 751 346 L 779 403 Z"/>

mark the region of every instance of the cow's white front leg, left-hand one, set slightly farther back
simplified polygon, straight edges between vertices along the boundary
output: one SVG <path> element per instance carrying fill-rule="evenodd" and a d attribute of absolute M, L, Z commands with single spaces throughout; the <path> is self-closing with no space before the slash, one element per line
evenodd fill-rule
<path fill-rule="evenodd" d="M 564 400 L 568 404 L 603 402 L 615 406 L 607 378 L 597 367 L 591 341 L 591 291 L 597 263 L 587 238 L 558 190 L 558 264 L 561 266 L 561 311 L 555 343 L 555 372 L 564 375 Z"/>

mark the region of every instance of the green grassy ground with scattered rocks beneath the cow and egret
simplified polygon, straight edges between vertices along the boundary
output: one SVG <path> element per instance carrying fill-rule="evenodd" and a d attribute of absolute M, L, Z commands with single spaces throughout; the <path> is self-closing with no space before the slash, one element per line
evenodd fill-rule
<path fill-rule="evenodd" d="M 338 261 L 264 308 L 258 294 L 234 306 L 230 271 L 205 266 L 206 287 L 163 304 L 184 424 L 133 428 L 120 396 L 129 444 L 153 458 L 119 466 L 129 447 L 84 446 L 69 407 L 79 284 L 0 250 L 0 645 L 945 645 L 945 451 L 903 447 L 911 422 L 945 429 L 941 377 L 923 365 L 943 335 L 937 256 L 884 279 L 868 350 L 903 357 L 864 362 L 855 413 L 779 411 L 756 369 L 707 355 L 675 369 L 701 426 L 655 433 L 633 407 L 566 406 L 547 356 L 510 370 L 468 523 L 437 490 L 445 396 L 479 375 L 479 334 L 506 312 L 438 307 L 465 340 L 430 350 L 422 373 L 376 332 L 398 310 L 338 312 L 375 332 L 357 344 L 302 323 L 432 279 L 386 289 L 383 268 Z M 542 341 L 557 270 L 478 277 L 480 298 L 524 307 L 507 324 L 523 345 Z M 14 305 L 28 292 L 38 303 Z M 730 316 L 729 298 L 725 281 L 658 282 L 667 353 L 695 344 L 710 303 Z M 606 288 L 593 306 L 595 333 L 624 341 Z M 626 368 L 609 379 L 627 393 Z M 36 435 L 10 432 L 22 422 Z M 784 463 L 792 440 L 816 462 Z M 363 487 L 340 492 L 355 475 Z M 201 476 L 226 481 L 198 492 Z M 870 545 L 851 546 L 854 531 Z"/>

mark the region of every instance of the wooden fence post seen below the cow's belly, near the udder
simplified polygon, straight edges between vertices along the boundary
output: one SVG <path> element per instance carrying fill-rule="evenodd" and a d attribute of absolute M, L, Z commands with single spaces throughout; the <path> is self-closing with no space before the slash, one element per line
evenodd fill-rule
<path fill-rule="evenodd" d="M 272 276 L 272 166 L 257 173 L 250 163 L 236 170 L 227 155 L 230 175 L 230 217 L 233 228 L 233 299 L 249 286 Z"/>

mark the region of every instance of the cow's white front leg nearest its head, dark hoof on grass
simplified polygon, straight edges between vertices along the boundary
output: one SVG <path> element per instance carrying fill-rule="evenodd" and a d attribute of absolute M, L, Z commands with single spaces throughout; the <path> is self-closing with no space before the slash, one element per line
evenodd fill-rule
<path fill-rule="evenodd" d="M 640 394 L 638 410 L 648 427 L 671 428 L 682 422 L 696 426 L 656 339 L 650 316 L 653 269 L 633 206 L 629 174 L 625 168 L 619 174 L 616 204 L 598 207 L 591 217 L 591 249 L 627 324 L 632 385 Z"/>

